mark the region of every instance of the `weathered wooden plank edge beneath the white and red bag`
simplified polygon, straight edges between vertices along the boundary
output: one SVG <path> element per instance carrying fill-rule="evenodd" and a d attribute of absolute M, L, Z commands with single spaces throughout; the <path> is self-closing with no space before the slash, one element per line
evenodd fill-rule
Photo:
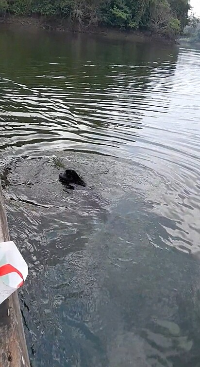
<path fill-rule="evenodd" d="M 0 242 L 9 240 L 0 184 Z M 17 291 L 0 305 L 0 367 L 30 367 Z"/>

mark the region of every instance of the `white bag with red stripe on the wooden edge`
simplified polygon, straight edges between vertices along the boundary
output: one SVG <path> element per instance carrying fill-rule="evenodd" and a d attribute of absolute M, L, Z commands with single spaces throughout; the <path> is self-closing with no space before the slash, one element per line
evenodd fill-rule
<path fill-rule="evenodd" d="M 0 304 L 20 288 L 28 275 L 28 265 L 14 242 L 0 242 Z"/>

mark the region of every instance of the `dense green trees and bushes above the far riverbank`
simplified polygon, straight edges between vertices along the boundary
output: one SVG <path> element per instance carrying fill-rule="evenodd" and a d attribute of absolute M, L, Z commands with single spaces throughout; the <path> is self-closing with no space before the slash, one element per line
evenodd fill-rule
<path fill-rule="evenodd" d="M 0 0 L 0 13 L 67 18 L 80 28 L 102 24 L 176 37 L 188 22 L 189 0 Z"/>

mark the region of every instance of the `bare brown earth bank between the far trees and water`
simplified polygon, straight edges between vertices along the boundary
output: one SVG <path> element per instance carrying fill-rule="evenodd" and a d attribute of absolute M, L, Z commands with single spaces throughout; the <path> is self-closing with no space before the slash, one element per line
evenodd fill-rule
<path fill-rule="evenodd" d="M 22 27 L 32 30 L 49 29 L 57 32 L 80 32 L 95 34 L 109 39 L 126 39 L 136 42 L 162 42 L 167 44 L 175 43 L 172 39 L 166 39 L 157 34 L 152 34 L 150 31 L 141 30 L 118 30 L 115 28 L 107 28 L 102 26 L 84 27 L 80 29 L 77 25 L 71 25 L 67 20 L 47 19 L 45 17 L 17 17 L 9 15 L 0 18 L 0 27 Z"/>

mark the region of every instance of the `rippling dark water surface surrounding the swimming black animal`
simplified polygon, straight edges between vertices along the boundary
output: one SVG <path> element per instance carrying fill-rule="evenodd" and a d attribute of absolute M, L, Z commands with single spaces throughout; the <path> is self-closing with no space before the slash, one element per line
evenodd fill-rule
<path fill-rule="evenodd" d="M 11 28 L 0 50 L 32 366 L 200 367 L 200 51 Z"/>

